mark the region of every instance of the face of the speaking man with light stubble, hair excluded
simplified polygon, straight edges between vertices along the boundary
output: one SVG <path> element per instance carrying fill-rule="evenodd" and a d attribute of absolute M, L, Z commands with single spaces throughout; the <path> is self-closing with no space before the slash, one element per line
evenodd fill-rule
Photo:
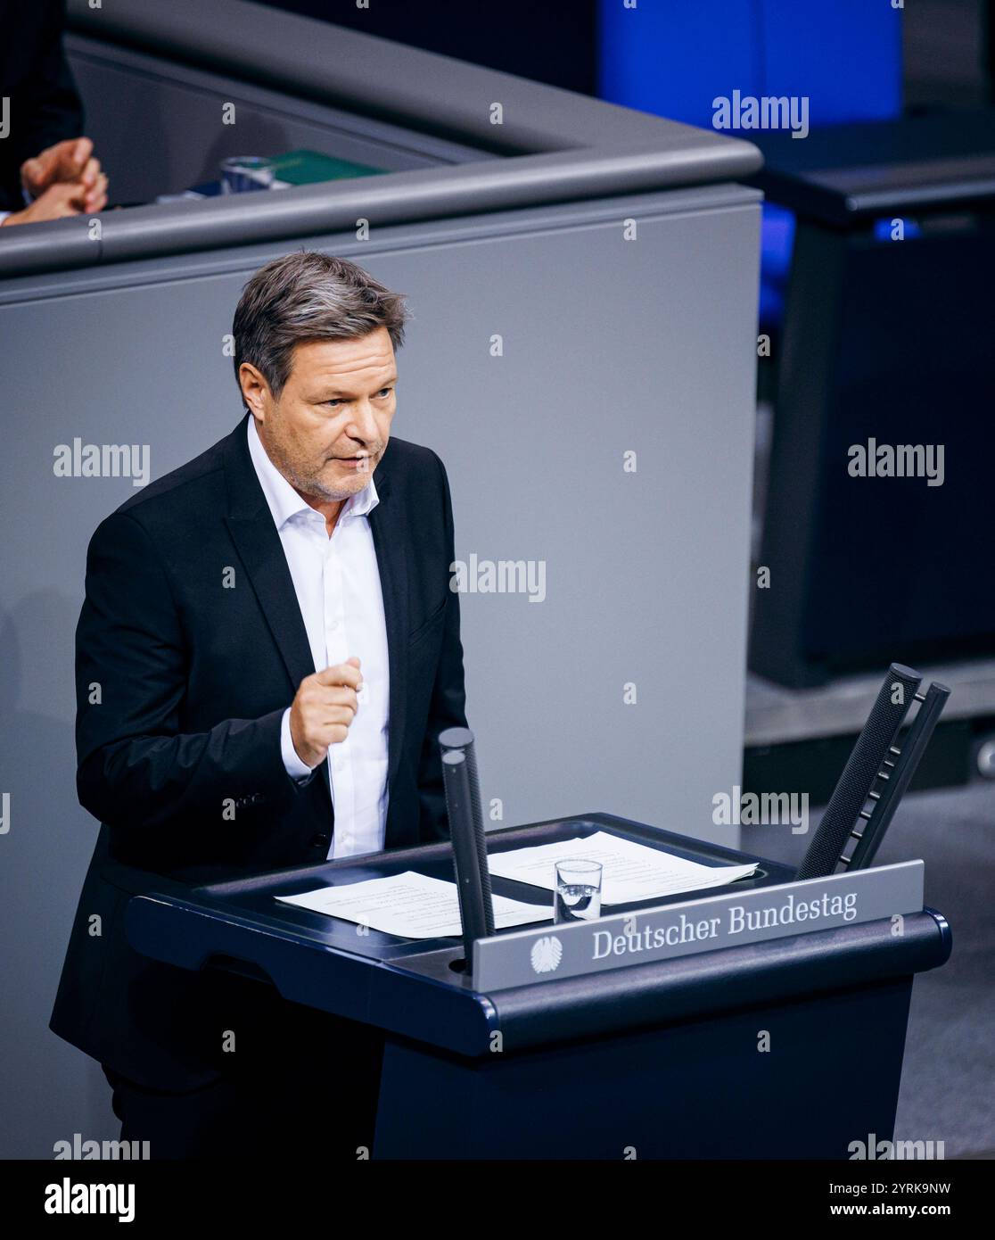
<path fill-rule="evenodd" d="M 363 490 L 387 449 L 397 405 L 385 327 L 358 340 L 296 345 L 279 398 L 255 367 L 243 363 L 239 377 L 263 446 L 300 495 L 327 503 Z"/>

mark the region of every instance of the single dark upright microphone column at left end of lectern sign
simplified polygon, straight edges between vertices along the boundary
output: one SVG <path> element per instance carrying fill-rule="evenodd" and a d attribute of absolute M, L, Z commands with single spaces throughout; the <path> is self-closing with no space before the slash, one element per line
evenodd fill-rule
<path fill-rule="evenodd" d="M 473 733 L 447 728 L 439 735 L 442 750 L 442 782 L 452 839 L 452 864 L 460 894 L 460 921 L 467 971 L 472 968 L 473 940 L 494 932 L 491 870 L 487 867 L 487 837 L 483 830 L 481 792 Z"/>

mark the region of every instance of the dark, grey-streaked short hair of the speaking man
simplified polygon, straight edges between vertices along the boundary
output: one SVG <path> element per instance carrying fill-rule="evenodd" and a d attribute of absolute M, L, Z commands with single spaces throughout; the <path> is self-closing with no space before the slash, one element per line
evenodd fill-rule
<path fill-rule="evenodd" d="M 295 345 L 357 340 L 387 327 L 400 348 L 408 317 L 404 294 L 392 293 L 347 258 L 316 250 L 286 254 L 260 267 L 242 290 L 232 324 L 235 382 L 242 363 L 250 362 L 279 397 Z"/>

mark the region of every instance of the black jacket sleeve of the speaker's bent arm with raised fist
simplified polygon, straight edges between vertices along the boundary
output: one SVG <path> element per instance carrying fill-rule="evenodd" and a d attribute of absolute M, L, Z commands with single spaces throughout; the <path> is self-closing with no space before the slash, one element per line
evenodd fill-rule
<path fill-rule="evenodd" d="M 190 656 L 170 584 L 142 526 L 100 523 L 76 634 L 77 791 L 112 827 L 141 831 L 224 799 L 295 795 L 280 753 L 284 708 L 181 732 Z M 289 703 L 287 703 L 289 704 Z"/>

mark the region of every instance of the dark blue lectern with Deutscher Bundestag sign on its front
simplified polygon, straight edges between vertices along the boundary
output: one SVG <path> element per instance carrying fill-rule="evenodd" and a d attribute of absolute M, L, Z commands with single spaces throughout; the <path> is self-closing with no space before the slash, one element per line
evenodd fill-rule
<path fill-rule="evenodd" d="M 596 831 L 706 866 L 756 861 L 606 813 L 494 831 L 487 849 Z M 869 1133 L 892 1137 L 912 980 L 950 954 L 945 920 L 922 908 L 921 862 L 798 884 L 761 861 L 732 887 L 602 911 L 605 925 L 626 914 L 662 931 L 678 909 L 705 909 L 720 925 L 722 909 L 752 900 L 774 910 L 767 937 L 699 945 L 709 950 L 663 942 L 653 959 L 620 955 L 597 971 L 546 970 L 486 991 L 451 967 L 463 957 L 458 939 L 399 939 L 274 898 L 409 869 L 451 880 L 450 844 L 198 888 L 162 879 L 130 900 L 128 935 L 156 960 L 256 973 L 287 999 L 384 1029 L 374 1158 L 840 1159 Z M 918 900 L 906 893 L 898 906 L 880 884 L 874 895 L 892 870 L 903 882 L 916 870 Z M 497 895 L 551 903 L 534 887 L 492 882 Z M 871 919 L 774 924 L 778 909 L 782 921 L 784 909 L 799 914 L 819 883 L 865 884 Z M 527 947 L 537 934 L 566 937 L 549 923 L 484 942 L 501 950 L 509 935 Z"/>

